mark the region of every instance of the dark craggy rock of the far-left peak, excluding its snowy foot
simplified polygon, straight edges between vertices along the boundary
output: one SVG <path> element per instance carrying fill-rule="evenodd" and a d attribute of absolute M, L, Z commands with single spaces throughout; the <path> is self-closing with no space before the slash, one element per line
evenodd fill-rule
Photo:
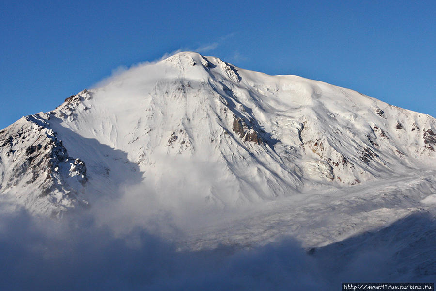
<path fill-rule="evenodd" d="M 77 171 L 75 174 L 78 174 L 77 178 L 83 185 L 87 181 L 85 163 L 68 157 L 57 133 L 37 117 L 28 116 L 27 121 L 28 124 L 10 131 L 7 136 L 0 136 L 0 145 L 4 146 L 2 150 L 6 153 L 4 159 L 9 160 L 5 163 L 12 164 L 11 175 L 1 182 L 2 191 L 21 184 L 32 185 L 31 189 L 35 189 L 33 192 L 39 197 L 50 195 L 55 189 L 66 195 L 72 191 L 66 180 L 69 177 L 57 168 L 66 168 L 68 160 L 71 160 L 73 170 Z"/>

